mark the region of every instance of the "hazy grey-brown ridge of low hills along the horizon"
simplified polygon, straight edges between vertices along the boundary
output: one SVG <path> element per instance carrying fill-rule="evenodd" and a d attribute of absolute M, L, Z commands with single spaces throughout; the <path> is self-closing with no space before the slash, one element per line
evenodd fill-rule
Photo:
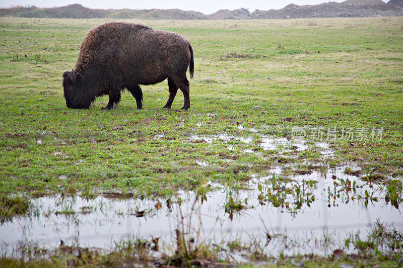
<path fill-rule="evenodd" d="M 354 0 L 355 1 L 355 0 Z M 376 1 L 376 0 L 373 0 Z M 381 0 L 378 0 L 383 3 Z M 360 1 L 359 1 L 360 2 Z M 365 4 L 365 3 L 364 3 Z M 279 10 L 256 10 L 250 13 L 241 8 L 238 10 L 220 10 L 205 15 L 201 12 L 183 11 L 180 9 L 90 9 L 79 4 L 54 8 L 12 7 L 0 9 L 0 17 L 22 18 L 59 18 L 59 19 L 154 19 L 154 20 L 246 20 L 246 19 L 296 19 L 296 18 L 328 18 L 328 17 L 390 17 L 402 16 L 402 5 L 350 5 L 346 3 L 326 3 L 320 5 L 297 6 L 288 5 Z M 314 26 L 314 25 L 311 25 Z"/>

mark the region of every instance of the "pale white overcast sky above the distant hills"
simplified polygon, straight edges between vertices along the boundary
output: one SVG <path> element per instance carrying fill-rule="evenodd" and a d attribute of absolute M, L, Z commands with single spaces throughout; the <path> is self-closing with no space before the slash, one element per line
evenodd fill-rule
<path fill-rule="evenodd" d="M 343 2 L 344 0 L 332 0 L 331 2 Z M 239 9 L 246 8 L 250 12 L 255 9 L 270 10 L 281 9 L 288 4 L 296 5 L 316 5 L 320 3 L 330 2 L 329 0 L 65 0 L 65 1 L 49 1 L 49 0 L 0 0 L 0 7 L 8 8 L 12 6 L 37 6 L 40 8 L 62 7 L 70 4 L 81 4 L 84 7 L 92 9 L 181 9 L 203 12 L 211 14 L 220 9 Z"/>

